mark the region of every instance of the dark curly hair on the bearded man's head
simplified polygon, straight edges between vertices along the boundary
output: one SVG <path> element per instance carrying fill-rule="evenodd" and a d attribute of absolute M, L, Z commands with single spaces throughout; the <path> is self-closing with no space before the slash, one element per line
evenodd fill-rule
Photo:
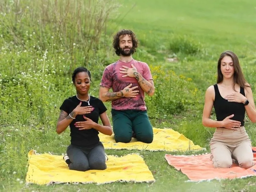
<path fill-rule="evenodd" d="M 116 50 L 116 55 L 120 56 L 120 47 L 119 47 L 119 38 L 120 36 L 129 35 L 132 37 L 132 54 L 136 52 L 136 48 L 138 47 L 138 40 L 136 39 L 135 34 L 132 32 L 132 30 L 126 30 L 122 29 L 116 33 L 116 35 L 113 38 L 113 47 Z"/>

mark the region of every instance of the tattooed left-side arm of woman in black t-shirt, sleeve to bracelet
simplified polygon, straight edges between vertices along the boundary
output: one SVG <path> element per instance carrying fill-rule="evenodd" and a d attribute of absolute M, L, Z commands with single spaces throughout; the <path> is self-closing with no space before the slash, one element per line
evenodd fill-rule
<path fill-rule="evenodd" d="M 72 111 L 70 113 L 70 116 L 75 118 L 74 111 Z M 58 122 L 57 122 L 57 126 L 56 126 L 56 132 L 58 134 L 60 134 L 63 131 L 65 131 L 67 129 L 68 125 L 73 121 L 73 119 L 70 116 L 65 111 L 63 111 L 63 110 L 60 111 L 60 116 L 59 116 L 59 119 L 58 119 Z"/>

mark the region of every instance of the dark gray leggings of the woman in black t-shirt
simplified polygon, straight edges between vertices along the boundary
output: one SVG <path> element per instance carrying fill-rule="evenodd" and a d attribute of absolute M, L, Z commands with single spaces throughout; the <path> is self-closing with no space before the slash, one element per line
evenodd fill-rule
<path fill-rule="evenodd" d="M 69 169 L 87 171 L 89 169 L 104 170 L 107 168 L 105 150 L 101 142 L 93 148 L 69 145 L 67 154 L 70 160 Z"/>

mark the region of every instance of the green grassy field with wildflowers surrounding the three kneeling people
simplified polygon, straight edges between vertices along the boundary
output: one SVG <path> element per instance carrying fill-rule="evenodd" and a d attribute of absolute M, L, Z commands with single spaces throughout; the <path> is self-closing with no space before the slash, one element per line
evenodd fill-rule
<path fill-rule="evenodd" d="M 37 4 L 29 4 L 29 0 L 23 2 L 22 10 L 27 10 L 24 12 L 30 12 L 30 15 L 35 13 Z M 34 25 L 33 17 L 25 13 L 22 17 L 17 15 L 21 22 L 14 22 L 12 12 L 5 10 L 7 6 L 1 4 L 1 11 L 7 14 L 0 15 L 0 191 L 253 191 L 255 177 L 186 182 L 188 178 L 185 175 L 167 164 L 164 159 L 166 152 L 126 150 L 106 152 L 118 156 L 140 153 L 153 173 L 155 183 L 68 186 L 25 184 L 27 153 L 30 149 L 38 153 L 50 151 L 60 155 L 65 153 L 69 144 L 68 131 L 60 135 L 55 132 L 59 106 L 65 98 L 75 93 L 69 71 L 85 60 L 85 66 L 92 72 L 91 94 L 98 96 L 104 67 L 118 59 L 111 48 L 111 38 L 119 29 L 130 28 L 136 33 L 140 45 L 134 58 L 147 62 L 155 76 L 156 95 L 152 99 L 146 97 L 148 114 L 154 127 L 173 128 L 209 152 L 209 141 L 214 129 L 206 128 L 201 123 L 204 92 L 215 83 L 217 60 L 225 50 L 232 50 L 238 55 L 256 97 L 256 2 L 118 2 L 122 6 L 111 12 L 110 20 L 104 25 L 103 35 L 93 36 L 99 46 L 82 45 L 88 39 L 79 39 L 79 34 L 70 31 L 66 31 L 66 36 L 65 33 L 57 33 L 56 26 L 40 28 L 40 25 Z M 6 4 L 10 9 L 20 10 L 15 8 L 15 3 Z M 28 6 L 30 8 L 25 9 Z M 44 19 L 50 16 L 46 15 Z M 34 17 L 37 18 L 36 14 Z M 73 23 L 70 21 L 69 24 L 67 26 L 72 28 Z M 12 25 L 15 28 L 10 27 Z M 17 29 L 16 35 L 10 33 L 14 29 Z M 91 35 L 90 32 L 88 34 Z M 92 50 L 88 49 L 90 46 Z M 84 55 L 88 55 L 88 58 L 84 58 Z M 177 62 L 169 62 L 168 58 L 175 58 Z M 106 106 L 111 118 L 110 103 Z M 248 121 L 245 126 L 252 145 L 256 146 L 256 126 Z"/>

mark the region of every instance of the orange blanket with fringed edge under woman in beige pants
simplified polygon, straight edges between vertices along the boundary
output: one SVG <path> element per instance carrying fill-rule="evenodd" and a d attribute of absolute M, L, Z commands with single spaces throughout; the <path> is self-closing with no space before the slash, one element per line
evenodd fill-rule
<path fill-rule="evenodd" d="M 165 155 L 168 164 L 181 171 L 192 181 L 211 180 L 211 179 L 235 179 L 256 175 L 256 147 L 252 148 L 255 165 L 249 169 L 239 167 L 233 164 L 231 168 L 213 167 L 210 159 L 211 154 L 191 155 L 191 156 L 175 156 Z"/>

